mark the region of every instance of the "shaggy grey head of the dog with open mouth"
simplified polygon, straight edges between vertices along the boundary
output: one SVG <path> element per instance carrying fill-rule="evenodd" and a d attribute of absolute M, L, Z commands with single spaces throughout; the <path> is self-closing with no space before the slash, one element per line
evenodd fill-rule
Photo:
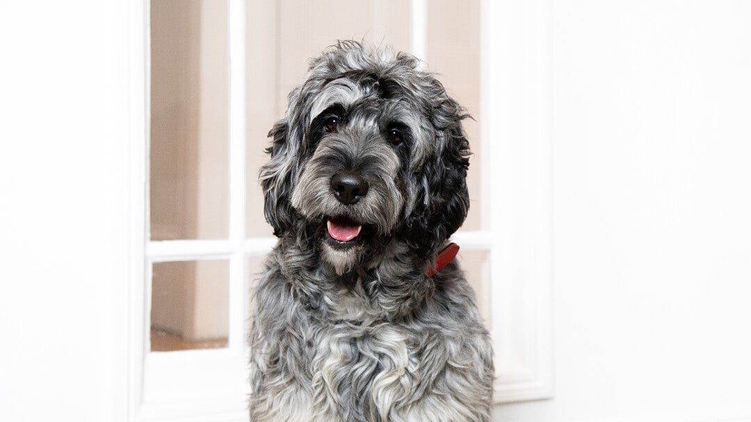
<path fill-rule="evenodd" d="M 311 62 L 269 133 L 266 218 L 279 237 L 315 237 L 339 274 L 391 241 L 431 259 L 466 217 L 466 114 L 418 64 L 340 42 Z"/>

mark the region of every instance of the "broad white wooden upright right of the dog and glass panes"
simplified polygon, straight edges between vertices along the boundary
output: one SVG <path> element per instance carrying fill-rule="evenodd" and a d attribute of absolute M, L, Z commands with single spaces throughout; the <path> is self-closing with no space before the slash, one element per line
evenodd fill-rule
<path fill-rule="evenodd" d="M 498 403 L 553 393 L 549 0 L 482 3 L 481 121 Z"/>

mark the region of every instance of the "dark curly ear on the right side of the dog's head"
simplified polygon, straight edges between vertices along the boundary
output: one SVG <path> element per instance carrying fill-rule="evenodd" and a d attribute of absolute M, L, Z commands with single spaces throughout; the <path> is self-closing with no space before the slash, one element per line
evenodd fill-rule
<path fill-rule="evenodd" d="M 442 86 L 440 88 L 442 90 Z M 445 91 L 440 97 L 432 115 L 435 152 L 427 158 L 421 172 L 420 192 L 415 210 L 406 220 L 403 239 L 426 260 L 438 253 L 439 247 L 459 229 L 469 211 L 466 187 L 469 142 L 461 123 L 469 115 Z"/>

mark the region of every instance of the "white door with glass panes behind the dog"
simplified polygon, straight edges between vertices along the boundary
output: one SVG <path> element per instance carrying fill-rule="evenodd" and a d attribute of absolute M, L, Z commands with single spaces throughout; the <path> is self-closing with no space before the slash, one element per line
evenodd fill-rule
<path fill-rule="evenodd" d="M 550 397 L 550 99 L 521 103 L 549 83 L 549 61 L 523 57 L 542 51 L 535 10 L 514 10 L 516 52 L 491 1 L 151 1 L 137 418 L 244 418 L 248 292 L 275 243 L 256 182 L 267 133 L 308 59 L 348 38 L 420 56 L 475 117 L 472 207 L 454 241 L 496 343 L 496 402 Z M 517 81 L 508 63 L 534 74 Z"/>

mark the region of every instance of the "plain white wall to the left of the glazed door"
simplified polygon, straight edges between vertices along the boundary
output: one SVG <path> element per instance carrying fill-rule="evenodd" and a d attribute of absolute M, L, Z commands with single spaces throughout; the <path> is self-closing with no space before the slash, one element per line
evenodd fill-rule
<path fill-rule="evenodd" d="M 112 2 L 113 3 L 113 2 Z M 126 416 L 126 10 L 0 3 L 0 420 Z"/>

